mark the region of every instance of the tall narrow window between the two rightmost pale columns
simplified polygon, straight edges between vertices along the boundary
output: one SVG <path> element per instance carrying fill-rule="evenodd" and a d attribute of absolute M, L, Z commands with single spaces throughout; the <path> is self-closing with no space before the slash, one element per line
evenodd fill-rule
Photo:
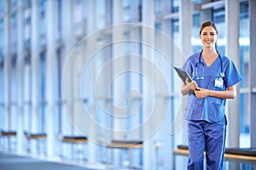
<path fill-rule="evenodd" d="M 241 103 L 240 103 L 240 147 L 250 147 L 250 105 L 249 103 L 249 14 L 248 2 L 240 3 L 240 70 L 241 70 Z"/>

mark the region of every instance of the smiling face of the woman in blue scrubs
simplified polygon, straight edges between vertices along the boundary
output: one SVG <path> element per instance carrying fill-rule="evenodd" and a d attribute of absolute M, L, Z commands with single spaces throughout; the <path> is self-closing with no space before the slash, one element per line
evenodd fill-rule
<path fill-rule="evenodd" d="M 205 48 L 212 48 L 218 39 L 218 34 L 212 26 L 206 26 L 200 34 L 201 42 Z"/>

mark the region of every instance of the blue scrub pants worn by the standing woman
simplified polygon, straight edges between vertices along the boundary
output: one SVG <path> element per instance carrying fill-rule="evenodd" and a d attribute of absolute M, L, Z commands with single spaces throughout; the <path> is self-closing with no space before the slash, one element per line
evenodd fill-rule
<path fill-rule="evenodd" d="M 226 125 L 205 121 L 188 121 L 188 169 L 203 169 L 203 152 L 206 151 L 207 170 L 221 170 L 224 162 Z"/>

